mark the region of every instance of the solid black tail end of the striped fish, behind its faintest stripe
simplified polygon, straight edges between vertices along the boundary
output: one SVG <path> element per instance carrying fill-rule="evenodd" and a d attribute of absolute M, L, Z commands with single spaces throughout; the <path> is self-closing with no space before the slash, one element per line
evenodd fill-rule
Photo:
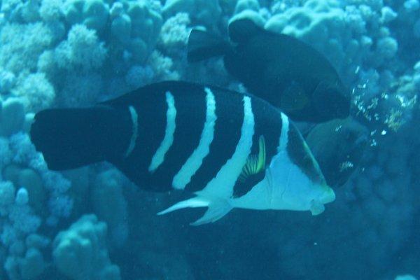
<path fill-rule="evenodd" d="M 48 109 L 36 114 L 30 134 L 48 168 L 63 170 L 122 155 L 130 125 L 130 117 L 111 106 Z"/>

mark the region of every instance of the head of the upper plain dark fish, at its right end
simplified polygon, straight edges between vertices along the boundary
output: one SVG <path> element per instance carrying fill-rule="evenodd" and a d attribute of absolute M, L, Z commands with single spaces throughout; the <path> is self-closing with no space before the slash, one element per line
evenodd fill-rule
<path fill-rule="evenodd" d="M 350 94 L 341 80 L 321 81 L 314 90 L 312 102 L 320 121 L 349 116 Z"/>

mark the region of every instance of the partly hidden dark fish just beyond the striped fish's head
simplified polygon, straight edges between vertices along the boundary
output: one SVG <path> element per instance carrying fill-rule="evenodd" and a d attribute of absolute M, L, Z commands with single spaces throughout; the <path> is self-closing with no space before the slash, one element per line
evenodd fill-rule
<path fill-rule="evenodd" d="M 316 125 L 305 137 L 332 188 L 344 185 L 360 164 L 367 147 L 367 128 L 352 118 Z"/>

